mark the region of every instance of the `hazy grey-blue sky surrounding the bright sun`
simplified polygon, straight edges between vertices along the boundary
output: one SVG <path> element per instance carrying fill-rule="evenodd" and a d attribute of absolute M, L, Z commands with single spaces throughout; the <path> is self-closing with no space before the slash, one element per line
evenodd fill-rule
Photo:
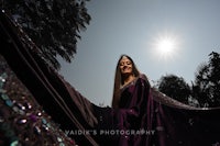
<path fill-rule="evenodd" d="M 220 0 L 90 0 L 87 8 L 92 20 L 61 74 L 95 104 L 111 104 L 121 54 L 152 85 L 168 74 L 190 85 L 208 55 L 220 53 Z"/>

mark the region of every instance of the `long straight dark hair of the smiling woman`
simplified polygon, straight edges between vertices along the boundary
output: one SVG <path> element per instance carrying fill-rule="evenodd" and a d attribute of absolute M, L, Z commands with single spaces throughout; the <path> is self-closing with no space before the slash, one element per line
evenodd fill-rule
<path fill-rule="evenodd" d="M 114 75 L 114 87 L 113 87 L 113 99 L 112 99 L 112 108 L 118 109 L 119 108 L 119 101 L 120 101 L 120 87 L 123 85 L 123 78 L 121 76 L 120 70 L 120 61 L 123 57 L 127 57 L 131 64 L 132 64 L 132 72 L 135 77 L 140 76 L 140 71 L 138 70 L 133 59 L 128 55 L 121 55 L 121 57 L 118 60 L 117 68 L 116 68 L 116 75 Z"/>

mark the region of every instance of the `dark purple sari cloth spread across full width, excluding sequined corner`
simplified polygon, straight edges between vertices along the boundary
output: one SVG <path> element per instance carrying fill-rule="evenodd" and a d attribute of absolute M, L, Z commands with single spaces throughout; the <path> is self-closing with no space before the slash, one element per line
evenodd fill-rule
<path fill-rule="evenodd" d="M 140 77 L 121 89 L 119 109 L 89 102 L 38 56 L 1 12 L 0 53 L 38 104 L 78 145 L 217 146 L 220 109 L 183 104 Z M 97 91 L 98 92 L 98 91 Z M 105 98 L 105 97 L 103 97 Z"/>

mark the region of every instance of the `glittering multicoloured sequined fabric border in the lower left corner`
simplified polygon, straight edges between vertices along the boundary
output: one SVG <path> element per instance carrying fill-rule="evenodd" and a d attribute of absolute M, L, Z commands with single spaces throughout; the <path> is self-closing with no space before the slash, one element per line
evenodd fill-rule
<path fill-rule="evenodd" d="M 0 55 L 0 146 L 75 145 Z"/>

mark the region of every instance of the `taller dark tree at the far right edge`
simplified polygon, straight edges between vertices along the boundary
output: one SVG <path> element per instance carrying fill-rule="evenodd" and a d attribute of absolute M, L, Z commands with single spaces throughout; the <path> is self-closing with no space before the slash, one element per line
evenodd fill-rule
<path fill-rule="evenodd" d="M 201 106 L 220 105 L 220 54 L 210 53 L 209 61 L 198 67 L 193 96 L 198 99 Z"/>

